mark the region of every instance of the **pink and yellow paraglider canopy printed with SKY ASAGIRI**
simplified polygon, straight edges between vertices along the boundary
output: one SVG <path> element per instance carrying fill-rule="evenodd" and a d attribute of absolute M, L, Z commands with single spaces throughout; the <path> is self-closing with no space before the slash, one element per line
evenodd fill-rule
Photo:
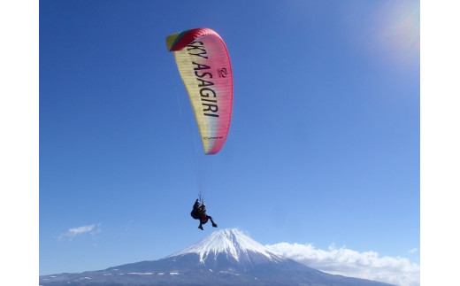
<path fill-rule="evenodd" d="M 210 28 L 195 28 L 166 37 L 188 92 L 205 154 L 226 142 L 233 105 L 233 73 L 226 44 Z"/>

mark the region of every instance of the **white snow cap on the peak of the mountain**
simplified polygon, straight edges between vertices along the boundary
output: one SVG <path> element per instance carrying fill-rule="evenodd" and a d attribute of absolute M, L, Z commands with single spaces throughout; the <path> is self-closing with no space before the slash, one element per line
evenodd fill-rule
<path fill-rule="evenodd" d="M 284 258 L 272 253 L 264 245 L 257 243 L 235 228 L 215 231 L 200 242 L 183 251 L 174 253 L 170 257 L 197 253 L 203 263 L 210 254 L 214 254 L 214 257 L 216 257 L 219 253 L 225 253 L 227 257 L 240 261 L 242 257 L 248 257 L 249 252 L 262 254 L 272 261 L 284 260 Z"/>

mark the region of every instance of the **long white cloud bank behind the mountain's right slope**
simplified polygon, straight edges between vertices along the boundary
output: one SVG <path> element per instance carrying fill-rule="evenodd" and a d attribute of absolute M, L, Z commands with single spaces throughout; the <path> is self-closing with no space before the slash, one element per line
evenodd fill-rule
<path fill-rule="evenodd" d="M 312 244 L 276 243 L 271 251 L 329 274 L 364 278 L 400 286 L 420 285 L 420 266 L 400 257 L 379 257 L 374 251 L 352 251 L 334 245 L 327 250 Z"/>

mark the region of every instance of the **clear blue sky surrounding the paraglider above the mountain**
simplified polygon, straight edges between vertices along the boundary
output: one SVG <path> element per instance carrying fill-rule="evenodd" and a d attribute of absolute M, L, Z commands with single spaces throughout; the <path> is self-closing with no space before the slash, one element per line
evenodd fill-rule
<path fill-rule="evenodd" d="M 39 16 L 40 274 L 196 243 L 214 230 L 189 217 L 199 189 L 219 228 L 260 243 L 420 264 L 418 1 L 41 1 Z M 194 27 L 223 37 L 234 72 L 228 139 L 205 158 L 165 48 Z"/>

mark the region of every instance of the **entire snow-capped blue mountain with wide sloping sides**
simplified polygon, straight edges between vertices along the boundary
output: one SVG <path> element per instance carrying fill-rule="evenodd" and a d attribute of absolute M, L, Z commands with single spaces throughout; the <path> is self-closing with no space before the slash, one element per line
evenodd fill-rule
<path fill-rule="evenodd" d="M 164 259 L 80 274 L 40 276 L 42 286 L 311 285 L 384 286 L 382 282 L 326 274 L 286 259 L 237 229 L 213 232 Z"/>

